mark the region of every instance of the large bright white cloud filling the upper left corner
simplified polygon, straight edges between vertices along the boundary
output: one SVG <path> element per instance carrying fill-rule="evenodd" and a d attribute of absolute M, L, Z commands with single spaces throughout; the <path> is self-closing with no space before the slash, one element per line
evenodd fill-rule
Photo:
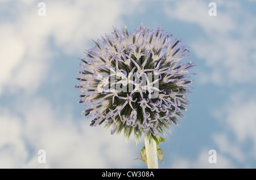
<path fill-rule="evenodd" d="M 131 12 L 138 2 L 126 6 L 127 11 L 120 1 L 45 3 L 46 16 L 39 16 L 37 3 L 15 2 L 12 13 L 0 23 L 0 93 L 6 88 L 35 92 L 57 53 L 75 58 L 83 55 L 92 38 L 110 32 L 112 25 L 120 25 L 122 15 Z"/>

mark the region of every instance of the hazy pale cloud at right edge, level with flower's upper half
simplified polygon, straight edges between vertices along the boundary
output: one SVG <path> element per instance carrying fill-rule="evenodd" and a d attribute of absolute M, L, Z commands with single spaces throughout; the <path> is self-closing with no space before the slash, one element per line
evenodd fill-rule
<path fill-rule="evenodd" d="M 254 71 L 256 44 L 248 40 L 214 36 L 210 40 L 199 40 L 192 45 L 197 56 L 205 59 L 205 65 L 212 67 L 208 82 L 214 84 L 251 83 L 256 80 Z"/>

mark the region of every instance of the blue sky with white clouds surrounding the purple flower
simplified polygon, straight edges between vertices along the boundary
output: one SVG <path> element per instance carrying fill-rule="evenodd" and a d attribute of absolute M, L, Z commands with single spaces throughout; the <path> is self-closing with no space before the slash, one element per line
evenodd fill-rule
<path fill-rule="evenodd" d="M 39 2 L 0 1 L 0 168 L 146 168 L 143 140 L 89 127 L 73 88 L 92 38 L 141 23 L 183 38 L 197 65 L 159 168 L 256 168 L 256 1 L 43 1 L 46 16 Z"/>

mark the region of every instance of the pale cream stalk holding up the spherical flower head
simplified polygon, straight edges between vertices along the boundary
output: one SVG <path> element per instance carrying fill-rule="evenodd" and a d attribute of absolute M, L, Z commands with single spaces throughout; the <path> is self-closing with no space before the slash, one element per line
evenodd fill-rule
<path fill-rule="evenodd" d="M 147 167 L 148 169 L 158 169 L 158 153 L 156 149 L 156 143 L 154 139 L 148 139 L 144 135 L 146 156 L 147 156 Z"/>

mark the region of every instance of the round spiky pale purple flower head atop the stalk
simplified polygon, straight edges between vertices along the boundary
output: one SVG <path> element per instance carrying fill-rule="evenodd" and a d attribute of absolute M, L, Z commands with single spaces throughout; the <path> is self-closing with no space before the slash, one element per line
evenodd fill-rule
<path fill-rule="evenodd" d="M 189 105 L 188 70 L 195 66 L 180 61 L 189 56 L 181 39 L 141 24 L 133 32 L 114 28 L 94 43 L 81 59 L 75 85 L 82 114 L 93 119 L 90 126 L 104 124 L 111 134 L 134 134 L 137 140 L 171 131 Z"/>

